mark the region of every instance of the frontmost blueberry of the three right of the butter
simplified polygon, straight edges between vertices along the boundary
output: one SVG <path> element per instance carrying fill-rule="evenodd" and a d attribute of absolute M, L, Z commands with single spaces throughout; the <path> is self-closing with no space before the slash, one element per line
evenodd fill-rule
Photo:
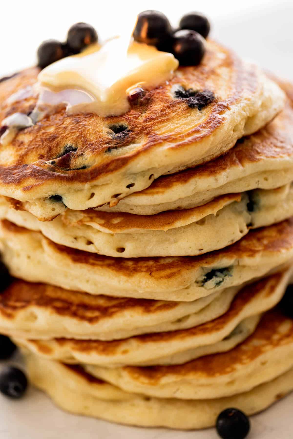
<path fill-rule="evenodd" d="M 198 65 L 205 54 L 205 40 L 194 30 L 178 30 L 172 49 L 180 65 Z"/>

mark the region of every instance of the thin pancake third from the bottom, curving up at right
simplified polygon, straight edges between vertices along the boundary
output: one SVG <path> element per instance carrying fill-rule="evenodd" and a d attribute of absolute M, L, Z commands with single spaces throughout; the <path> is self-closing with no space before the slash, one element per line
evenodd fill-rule
<path fill-rule="evenodd" d="M 293 267 L 289 267 L 242 288 L 224 315 L 193 328 L 113 341 L 17 338 L 17 342 L 33 353 L 65 363 L 103 367 L 183 364 L 203 355 L 232 349 L 233 336 L 229 337 L 227 343 L 224 339 L 231 333 L 233 335 L 239 324 L 242 324 L 241 330 L 238 328 L 234 335 L 238 335 L 238 332 L 244 334 L 244 338 L 250 335 L 260 314 L 273 308 L 282 299 L 292 273 Z M 251 317 L 253 319 L 249 319 Z M 13 336 L 13 332 L 13 327 L 6 331 L 10 336 Z"/>

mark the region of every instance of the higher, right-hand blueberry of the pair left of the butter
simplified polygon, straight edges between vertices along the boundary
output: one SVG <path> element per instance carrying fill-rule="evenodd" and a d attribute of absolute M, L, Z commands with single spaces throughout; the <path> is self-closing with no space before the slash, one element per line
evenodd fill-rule
<path fill-rule="evenodd" d="M 73 53 L 80 53 L 89 44 L 97 43 L 98 34 L 93 26 L 87 23 L 76 23 L 67 33 L 67 44 Z"/>

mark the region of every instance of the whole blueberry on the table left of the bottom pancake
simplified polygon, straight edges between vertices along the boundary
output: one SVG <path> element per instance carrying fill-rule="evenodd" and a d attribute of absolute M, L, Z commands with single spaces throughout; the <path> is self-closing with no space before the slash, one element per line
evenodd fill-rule
<path fill-rule="evenodd" d="M 17 367 L 7 366 L 0 373 L 0 392 L 13 399 L 21 398 L 27 389 L 25 374 Z"/>

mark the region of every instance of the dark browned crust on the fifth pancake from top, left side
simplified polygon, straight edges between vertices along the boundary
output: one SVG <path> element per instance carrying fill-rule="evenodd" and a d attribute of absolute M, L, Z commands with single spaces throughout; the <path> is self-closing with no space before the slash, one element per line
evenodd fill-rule
<path fill-rule="evenodd" d="M 14 280 L 0 295 L 0 313 L 6 318 L 13 320 L 18 312 L 32 306 L 45 308 L 52 314 L 97 324 L 102 320 L 123 314 L 127 310 L 133 310 L 142 316 L 174 309 L 177 303 L 104 295 L 94 296 L 20 280 Z"/>

